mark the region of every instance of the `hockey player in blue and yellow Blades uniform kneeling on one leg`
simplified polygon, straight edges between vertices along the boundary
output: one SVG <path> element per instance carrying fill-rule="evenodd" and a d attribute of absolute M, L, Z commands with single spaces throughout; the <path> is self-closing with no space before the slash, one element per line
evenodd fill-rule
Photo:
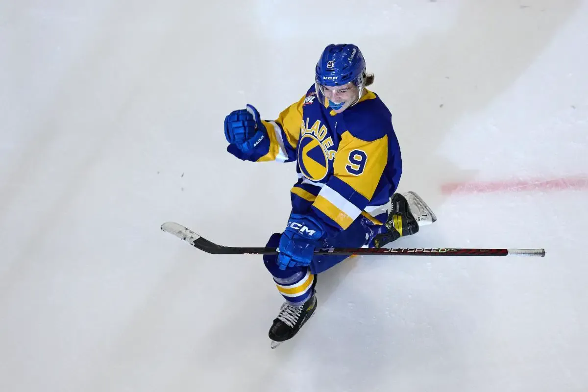
<path fill-rule="evenodd" d="M 225 118 L 227 150 L 252 162 L 296 161 L 292 212 L 263 261 L 286 299 L 269 337 L 275 347 L 293 337 L 316 309 L 316 276 L 348 256 L 313 256 L 328 247 L 381 247 L 436 220 L 413 192 L 395 193 L 402 175 L 392 115 L 367 87 L 358 46 L 328 45 L 315 83 L 273 121 L 252 105 Z"/>

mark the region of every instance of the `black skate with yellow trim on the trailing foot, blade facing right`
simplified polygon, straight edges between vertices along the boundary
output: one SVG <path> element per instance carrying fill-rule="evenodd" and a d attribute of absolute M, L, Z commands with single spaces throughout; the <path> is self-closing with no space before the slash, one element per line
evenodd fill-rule
<path fill-rule="evenodd" d="M 437 220 L 427 203 L 415 192 L 392 195 L 392 209 L 384 224 L 387 232 L 374 237 L 374 246 L 379 248 L 400 237 L 419 232 L 420 226 L 430 225 Z"/>

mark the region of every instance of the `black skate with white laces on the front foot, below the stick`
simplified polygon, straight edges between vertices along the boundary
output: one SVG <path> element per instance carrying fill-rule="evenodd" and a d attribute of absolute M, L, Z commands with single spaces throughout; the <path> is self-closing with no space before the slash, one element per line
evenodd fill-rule
<path fill-rule="evenodd" d="M 273 320 L 272 327 L 269 329 L 272 349 L 278 347 L 283 341 L 292 339 L 306 321 L 310 319 L 310 316 L 315 313 L 317 305 L 315 285 L 316 275 L 315 281 L 312 283 L 312 296 L 301 306 L 292 306 L 288 302 L 282 304 L 278 317 Z"/>

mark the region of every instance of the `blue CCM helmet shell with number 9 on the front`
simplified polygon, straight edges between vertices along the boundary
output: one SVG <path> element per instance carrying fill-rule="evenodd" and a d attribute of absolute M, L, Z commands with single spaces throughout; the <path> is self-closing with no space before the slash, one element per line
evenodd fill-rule
<path fill-rule="evenodd" d="M 316 63 L 316 82 L 323 86 L 342 86 L 356 81 L 365 69 L 366 62 L 356 45 L 332 43 Z"/>

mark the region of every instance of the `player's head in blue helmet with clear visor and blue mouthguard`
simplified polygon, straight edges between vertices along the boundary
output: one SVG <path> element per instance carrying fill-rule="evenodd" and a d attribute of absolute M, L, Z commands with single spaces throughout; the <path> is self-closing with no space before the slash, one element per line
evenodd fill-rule
<path fill-rule="evenodd" d="M 362 97 L 366 62 L 358 46 L 328 45 L 315 69 L 315 91 L 320 102 L 340 113 Z M 349 87 L 352 83 L 353 87 Z M 345 86 L 345 87 L 343 87 Z"/>

